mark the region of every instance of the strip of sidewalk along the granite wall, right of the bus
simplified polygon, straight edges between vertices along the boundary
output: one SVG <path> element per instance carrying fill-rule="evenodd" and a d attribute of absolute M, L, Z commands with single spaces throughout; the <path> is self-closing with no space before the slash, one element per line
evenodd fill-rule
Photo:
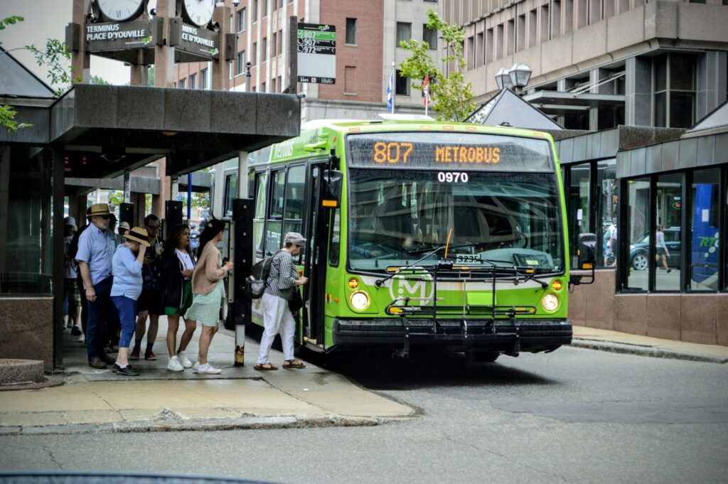
<path fill-rule="evenodd" d="M 686 343 L 583 326 L 574 326 L 571 346 L 676 360 L 728 362 L 728 346 Z"/>

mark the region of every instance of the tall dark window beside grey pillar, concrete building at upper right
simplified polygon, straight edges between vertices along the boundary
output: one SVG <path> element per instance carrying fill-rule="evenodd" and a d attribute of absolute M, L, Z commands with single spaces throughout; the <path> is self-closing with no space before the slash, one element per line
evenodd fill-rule
<path fill-rule="evenodd" d="M 662 54 L 653 59 L 654 125 L 691 127 L 695 123 L 695 56 Z"/>

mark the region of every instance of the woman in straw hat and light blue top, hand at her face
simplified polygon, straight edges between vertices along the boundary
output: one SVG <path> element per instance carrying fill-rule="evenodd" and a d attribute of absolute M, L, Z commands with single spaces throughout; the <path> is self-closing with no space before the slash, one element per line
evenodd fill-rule
<path fill-rule="evenodd" d="M 138 376 L 136 368 L 129 364 L 129 344 L 136 327 L 136 301 L 141 294 L 142 262 L 146 247 L 149 247 L 146 230 L 134 227 L 124 234 L 125 242 L 116 248 L 112 271 L 114 285 L 111 286 L 111 300 L 119 312 L 122 333 L 119 337 L 119 354 L 114 363 L 114 373 L 122 376 Z"/>

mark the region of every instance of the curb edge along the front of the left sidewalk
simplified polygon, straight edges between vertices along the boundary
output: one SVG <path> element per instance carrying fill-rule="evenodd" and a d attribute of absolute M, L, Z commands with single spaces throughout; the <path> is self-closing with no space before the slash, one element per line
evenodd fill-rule
<path fill-rule="evenodd" d="M 325 427 L 373 427 L 395 421 L 412 420 L 410 417 L 349 417 L 331 416 L 319 418 L 238 417 L 238 418 L 189 418 L 162 419 L 157 421 L 123 421 L 106 424 L 68 424 L 44 426 L 0 427 L 0 435 L 70 435 L 90 433 L 142 433 L 214 430 L 260 429 L 319 429 Z"/>

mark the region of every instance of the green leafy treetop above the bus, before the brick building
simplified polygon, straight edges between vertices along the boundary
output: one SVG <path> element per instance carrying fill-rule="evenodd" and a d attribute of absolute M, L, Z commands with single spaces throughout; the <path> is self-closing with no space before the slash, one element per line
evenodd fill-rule
<path fill-rule="evenodd" d="M 430 57 L 427 42 L 410 39 L 401 41 L 400 47 L 411 52 L 403 63 L 400 64 L 400 75 L 417 79 L 412 82 L 411 87 L 422 91 L 422 81 L 425 76 L 430 76 L 430 97 L 432 98 L 432 111 L 437 114 L 441 121 L 459 121 L 469 116 L 475 110 L 475 103 L 472 98 L 470 82 L 465 82 L 464 70 L 467 66 L 462 57 L 462 43 L 464 29 L 456 25 L 448 25 L 432 9 L 427 10 L 427 28 L 437 30 L 444 41 L 446 55 L 441 59 L 444 66 L 450 65 L 451 69 L 446 76 Z"/>

